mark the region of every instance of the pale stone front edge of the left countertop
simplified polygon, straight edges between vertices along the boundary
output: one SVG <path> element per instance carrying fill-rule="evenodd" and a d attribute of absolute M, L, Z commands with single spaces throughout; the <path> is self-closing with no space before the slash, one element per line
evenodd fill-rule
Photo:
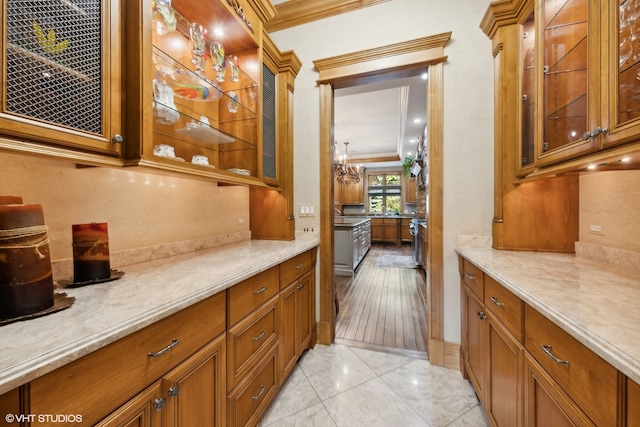
<path fill-rule="evenodd" d="M 154 307 L 152 310 L 141 312 L 136 316 L 128 317 L 111 327 L 83 336 L 77 340 L 61 345 L 60 347 L 52 348 L 45 353 L 37 354 L 18 364 L 3 369 L 0 371 L 0 394 L 13 390 L 16 387 L 33 381 L 36 378 L 78 360 L 83 356 L 106 347 L 121 338 L 131 335 L 153 323 L 177 313 L 180 310 L 222 292 L 243 280 L 255 276 L 262 271 L 281 264 L 283 261 L 286 261 L 309 249 L 313 249 L 318 245 L 319 242 L 317 240 L 308 240 L 306 242 L 304 240 L 302 240 L 302 242 L 298 240 L 298 244 L 296 244 L 296 246 L 284 256 L 274 256 L 267 262 L 252 265 L 251 268 L 243 270 L 241 274 L 228 277 L 219 282 L 213 282 L 197 291 L 185 293 L 180 298 L 172 300 L 169 303 Z M 217 250 L 224 250 L 224 246 L 217 248 Z M 136 266 L 136 268 L 143 271 L 144 264 L 151 263 L 143 263 Z M 72 309 L 73 307 L 68 310 Z"/>

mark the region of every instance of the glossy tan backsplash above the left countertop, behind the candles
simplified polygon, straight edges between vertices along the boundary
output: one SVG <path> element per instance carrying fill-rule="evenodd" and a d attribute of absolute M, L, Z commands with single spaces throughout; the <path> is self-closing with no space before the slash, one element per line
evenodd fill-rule
<path fill-rule="evenodd" d="M 176 254 L 251 238 L 248 188 L 139 168 L 77 168 L 0 153 L 0 194 L 42 205 L 54 262 L 72 257 L 72 224 L 108 223 L 115 266 L 131 254 Z"/>

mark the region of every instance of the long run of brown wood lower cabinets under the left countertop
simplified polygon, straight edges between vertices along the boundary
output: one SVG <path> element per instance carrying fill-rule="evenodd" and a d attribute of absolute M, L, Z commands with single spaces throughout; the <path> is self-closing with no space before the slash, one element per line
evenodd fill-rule
<path fill-rule="evenodd" d="M 315 248 L 283 261 L 0 395 L 0 410 L 101 427 L 256 425 L 315 345 L 315 262 Z"/>

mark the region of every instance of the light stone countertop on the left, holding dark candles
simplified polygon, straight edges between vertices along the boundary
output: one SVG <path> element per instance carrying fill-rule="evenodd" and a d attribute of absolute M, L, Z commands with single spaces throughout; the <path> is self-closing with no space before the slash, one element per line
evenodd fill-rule
<path fill-rule="evenodd" d="M 56 289 L 68 309 L 0 326 L 0 394 L 318 245 L 249 240 L 120 268 L 112 282 Z"/>

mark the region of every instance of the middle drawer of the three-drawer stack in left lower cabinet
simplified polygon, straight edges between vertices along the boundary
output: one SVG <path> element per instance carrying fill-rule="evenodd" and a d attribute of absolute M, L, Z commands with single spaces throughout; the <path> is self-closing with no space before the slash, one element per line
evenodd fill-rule
<path fill-rule="evenodd" d="M 238 384 L 271 345 L 278 341 L 278 296 L 227 334 L 227 391 Z"/>

